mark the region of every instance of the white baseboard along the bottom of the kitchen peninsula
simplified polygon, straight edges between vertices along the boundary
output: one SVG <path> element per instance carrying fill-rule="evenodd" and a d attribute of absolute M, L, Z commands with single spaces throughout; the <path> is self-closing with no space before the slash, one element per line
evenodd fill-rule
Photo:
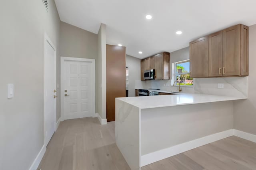
<path fill-rule="evenodd" d="M 199 146 L 203 146 L 205 144 L 215 142 L 217 140 L 227 138 L 227 137 L 233 136 L 233 135 L 234 135 L 234 130 L 230 129 L 230 130 L 226 130 L 223 132 L 211 134 L 209 136 L 204 136 L 202 138 L 198 138 L 195 140 L 191 140 L 189 142 L 178 144 L 178 145 L 172 146 L 170 148 L 158 150 L 158 151 L 152 152 L 150 154 L 142 155 L 141 159 L 140 159 L 140 161 L 141 161 L 140 166 L 146 166 L 148 164 L 152 164 L 153 162 L 157 162 L 159 160 L 168 158 L 170 156 L 174 156 L 176 154 L 180 154 L 182 152 L 186 152 L 188 150 L 197 148 Z"/>

